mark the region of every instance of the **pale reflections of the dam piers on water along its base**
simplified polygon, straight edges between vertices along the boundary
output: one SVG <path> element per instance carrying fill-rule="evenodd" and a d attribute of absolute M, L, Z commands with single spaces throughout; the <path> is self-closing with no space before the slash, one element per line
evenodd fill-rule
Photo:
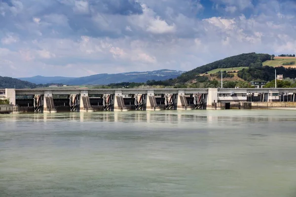
<path fill-rule="evenodd" d="M 279 110 L 253 110 L 248 111 L 132 111 L 132 112 L 94 112 L 94 113 L 44 113 L 44 114 L 14 114 L 1 115 L 0 121 L 16 122 L 19 120 L 26 121 L 102 121 L 102 122 L 170 122 L 173 124 L 184 122 L 236 122 L 258 123 L 258 122 L 289 122 L 296 121 L 294 111 Z M 280 112 L 280 113 L 279 113 Z"/>

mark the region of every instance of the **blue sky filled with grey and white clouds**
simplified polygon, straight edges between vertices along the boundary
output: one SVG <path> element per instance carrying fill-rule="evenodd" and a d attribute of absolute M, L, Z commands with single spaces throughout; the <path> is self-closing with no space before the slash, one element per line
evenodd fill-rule
<path fill-rule="evenodd" d="M 296 54 L 296 0 L 0 0 L 0 76 L 191 70 Z"/>

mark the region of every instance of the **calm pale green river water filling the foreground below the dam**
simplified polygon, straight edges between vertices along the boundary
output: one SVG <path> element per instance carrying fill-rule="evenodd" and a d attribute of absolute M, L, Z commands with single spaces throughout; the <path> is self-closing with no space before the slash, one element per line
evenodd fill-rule
<path fill-rule="evenodd" d="M 295 196 L 295 111 L 0 115 L 0 197 Z"/>

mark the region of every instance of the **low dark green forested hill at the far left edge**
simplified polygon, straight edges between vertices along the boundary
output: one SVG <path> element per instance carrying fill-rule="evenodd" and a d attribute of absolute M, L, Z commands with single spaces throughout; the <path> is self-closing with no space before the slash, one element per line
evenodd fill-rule
<path fill-rule="evenodd" d="M 22 81 L 11 77 L 0 76 L 0 89 L 4 88 L 36 88 L 37 85 L 28 81 Z"/>

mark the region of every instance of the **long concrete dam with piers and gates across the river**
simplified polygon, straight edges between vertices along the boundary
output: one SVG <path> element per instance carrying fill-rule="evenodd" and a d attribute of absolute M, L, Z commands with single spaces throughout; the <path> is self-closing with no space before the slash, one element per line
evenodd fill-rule
<path fill-rule="evenodd" d="M 13 112 L 296 108 L 296 88 L 0 89 Z M 7 107 L 6 107 L 7 108 Z"/>

